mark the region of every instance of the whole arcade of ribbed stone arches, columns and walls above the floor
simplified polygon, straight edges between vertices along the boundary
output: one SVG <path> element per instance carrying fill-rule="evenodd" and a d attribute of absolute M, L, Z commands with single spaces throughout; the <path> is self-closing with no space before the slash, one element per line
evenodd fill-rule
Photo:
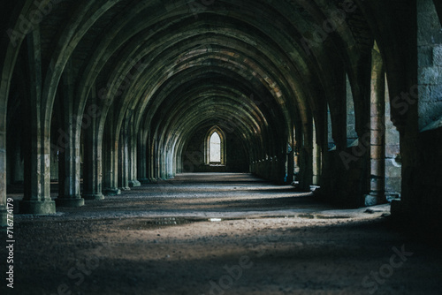
<path fill-rule="evenodd" d="M 41 215 L 204 171 L 442 216 L 438 0 L 1 6 L 3 225 L 8 185 Z"/>

